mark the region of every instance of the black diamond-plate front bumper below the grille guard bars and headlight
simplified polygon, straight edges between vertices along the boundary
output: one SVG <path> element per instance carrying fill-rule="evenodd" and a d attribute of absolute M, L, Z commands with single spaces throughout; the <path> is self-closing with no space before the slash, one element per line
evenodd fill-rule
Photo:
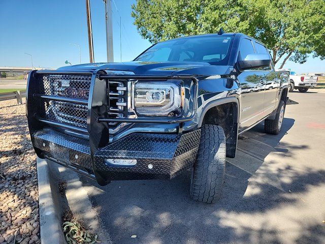
<path fill-rule="evenodd" d="M 93 157 L 87 139 L 51 128 L 37 131 L 31 138 L 40 158 L 50 159 L 106 185 L 110 180 L 175 177 L 193 166 L 200 136 L 200 130 L 183 134 L 134 133 L 98 148 Z M 136 160 L 136 164 L 116 165 L 110 163 L 112 160 Z"/>

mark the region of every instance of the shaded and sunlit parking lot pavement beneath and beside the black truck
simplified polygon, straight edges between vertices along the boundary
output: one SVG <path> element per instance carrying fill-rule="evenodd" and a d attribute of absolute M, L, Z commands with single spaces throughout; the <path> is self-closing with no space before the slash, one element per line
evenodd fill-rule
<path fill-rule="evenodd" d="M 289 97 L 298 104 L 279 135 L 259 124 L 240 136 L 215 204 L 191 200 L 190 172 L 105 187 L 81 178 L 113 243 L 325 243 L 325 94 Z"/>

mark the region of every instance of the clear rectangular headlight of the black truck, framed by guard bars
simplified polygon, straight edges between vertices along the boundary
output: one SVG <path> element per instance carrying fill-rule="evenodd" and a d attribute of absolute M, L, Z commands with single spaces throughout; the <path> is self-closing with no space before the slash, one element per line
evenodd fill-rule
<path fill-rule="evenodd" d="M 176 83 L 137 82 L 134 101 L 139 115 L 175 116 L 182 111 L 184 88 Z"/>

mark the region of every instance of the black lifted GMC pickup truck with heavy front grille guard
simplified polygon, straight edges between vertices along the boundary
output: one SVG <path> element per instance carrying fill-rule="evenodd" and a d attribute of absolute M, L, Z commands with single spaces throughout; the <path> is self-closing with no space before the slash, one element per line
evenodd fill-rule
<path fill-rule="evenodd" d="M 264 120 L 281 130 L 288 73 L 239 33 L 157 43 L 132 62 L 31 71 L 26 114 L 40 158 L 106 185 L 191 170 L 190 195 L 220 198 L 225 158 Z"/>

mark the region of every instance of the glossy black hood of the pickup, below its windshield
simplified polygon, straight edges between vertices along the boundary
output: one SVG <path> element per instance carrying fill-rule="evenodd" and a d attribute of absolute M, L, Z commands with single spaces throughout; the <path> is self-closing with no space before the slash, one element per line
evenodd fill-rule
<path fill-rule="evenodd" d="M 93 63 L 84 65 L 64 66 L 58 70 L 116 70 L 131 71 L 136 75 L 168 75 L 187 74 L 222 75 L 230 72 L 229 66 L 216 66 L 200 62 L 122 62 L 122 63 Z"/>

